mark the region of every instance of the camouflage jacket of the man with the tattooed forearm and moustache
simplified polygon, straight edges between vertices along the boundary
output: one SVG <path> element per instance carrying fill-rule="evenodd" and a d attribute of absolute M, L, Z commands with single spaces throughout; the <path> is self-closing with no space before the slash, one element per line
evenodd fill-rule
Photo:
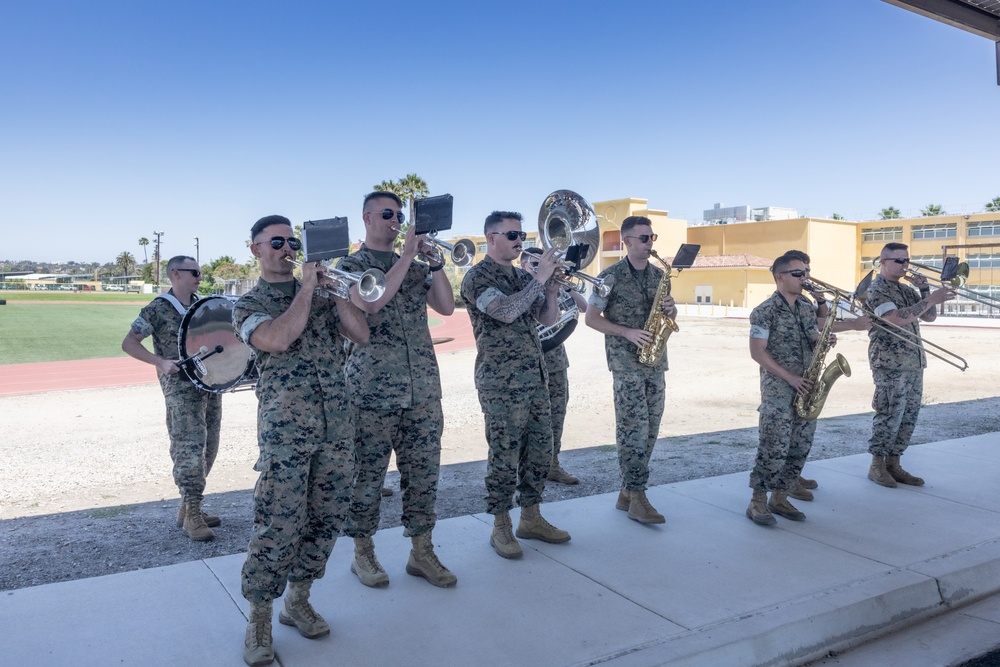
<path fill-rule="evenodd" d="M 511 268 L 487 255 L 462 280 L 462 301 L 476 336 L 476 389 L 480 392 L 537 387 L 539 382 L 548 381 L 538 321 L 533 314 L 544 301 L 544 293 L 539 290 L 532 307 L 510 324 L 486 314 L 491 291 L 494 297 L 497 292 L 510 296 L 534 280 L 527 271 L 517 268 L 511 276 Z"/>

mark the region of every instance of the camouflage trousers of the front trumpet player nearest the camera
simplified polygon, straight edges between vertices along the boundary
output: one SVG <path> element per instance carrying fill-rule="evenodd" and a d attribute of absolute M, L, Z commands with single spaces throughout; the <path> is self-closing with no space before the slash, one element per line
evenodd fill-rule
<path fill-rule="evenodd" d="M 286 445 L 265 451 L 253 494 L 253 530 L 241 577 L 251 602 L 281 596 L 287 581 L 312 581 L 343 527 L 351 498 L 351 440 Z"/>

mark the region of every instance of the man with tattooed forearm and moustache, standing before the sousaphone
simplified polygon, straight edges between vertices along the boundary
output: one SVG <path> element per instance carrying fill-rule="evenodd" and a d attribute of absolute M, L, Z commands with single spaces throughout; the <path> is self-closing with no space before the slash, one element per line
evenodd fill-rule
<path fill-rule="evenodd" d="M 549 280 L 556 260 L 552 250 L 543 253 L 537 279 L 513 266 L 525 237 L 518 213 L 494 211 L 484 231 L 487 255 L 466 273 L 462 301 L 476 337 L 475 381 L 489 443 L 490 544 L 504 558 L 519 558 L 509 514 L 515 502 L 521 507 L 518 537 L 553 543 L 570 539 L 539 511 L 552 463 L 552 413 L 537 325 L 556 319 L 558 288 Z"/>

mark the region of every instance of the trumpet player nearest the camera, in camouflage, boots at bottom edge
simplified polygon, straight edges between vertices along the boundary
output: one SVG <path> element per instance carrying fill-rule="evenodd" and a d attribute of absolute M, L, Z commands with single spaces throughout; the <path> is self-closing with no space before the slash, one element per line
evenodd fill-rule
<path fill-rule="evenodd" d="M 305 637 L 329 634 L 308 601 L 350 504 L 354 424 L 344 382 L 344 340 L 368 340 L 352 304 L 316 290 L 317 264 L 300 282 L 286 260 L 300 247 L 287 218 L 268 216 L 251 230 L 261 279 L 240 297 L 233 326 L 257 352 L 257 444 L 253 530 L 241 588 L 251 603 L 243 658 L 269 664 L 271 601 L 289 584 L 279 620 Z M 287 243 L 286 243 L 287 241 Z"/>

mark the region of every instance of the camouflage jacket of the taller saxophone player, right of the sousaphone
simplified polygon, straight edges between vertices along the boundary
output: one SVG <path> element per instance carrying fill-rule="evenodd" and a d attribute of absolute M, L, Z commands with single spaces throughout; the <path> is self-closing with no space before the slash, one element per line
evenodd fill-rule
<path fill-rule="evenodd" d="M 663 269 L 654 266 L 652 262 L 646 264 L 645 271 L 640 278 L 633 271 L 628 257 L 623 257 L 608 268 L 601 271 L 598 278 L 614 276 L 615 284 L 611 287 L 611 293 L 607 297 L 599 297 L 596 293 L 591 293 L 589 303 L 598 310 L 604 312 L 604 317 L 610 322 L 620 324 L 630 329 L 642 329 L 646 326 L 646 318 L 649 317 L 653 309 L 653 299 L 656 297 L 656 290 L 660 286 L 663 278 Z M 604 352 L 608 358 L 608 370 L 612 372 L 637 372 L 637 371 L 658 371 L 667 370 L 667 352 L 664 350 L 663 358 L 655 368 L 650 368 L 639 363 L 639 348 L 635 343 L 622 336 L 605 336 Z"/>

